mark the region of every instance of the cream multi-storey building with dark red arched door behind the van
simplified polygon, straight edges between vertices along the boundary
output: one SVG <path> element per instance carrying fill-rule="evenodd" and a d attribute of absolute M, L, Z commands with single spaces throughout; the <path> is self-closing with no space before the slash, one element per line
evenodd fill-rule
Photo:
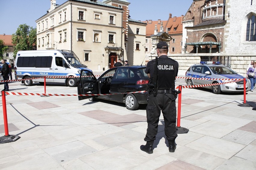
<path fill-rule="evenodd" d="M 142 35 L 128 41 L 130 3 L 126 0 L 69 0 L 61 5 L 50 0 L 50 3 L 47 14 L 36 20 L 38 50 L 72 50 L 88 68 L 107 70 L 114 60 L 128 59 L 130 42 L 141 42 L 140 45 L 145 42 L 146 24 L 135 20 L 129 24 L 136 25 Z M 136 52 L 139 52 L 136 57 L 143 60 L 144 51 Z M 130 60 L 136 61 L 131 64 L 141 64 L 133 56 Z"/>

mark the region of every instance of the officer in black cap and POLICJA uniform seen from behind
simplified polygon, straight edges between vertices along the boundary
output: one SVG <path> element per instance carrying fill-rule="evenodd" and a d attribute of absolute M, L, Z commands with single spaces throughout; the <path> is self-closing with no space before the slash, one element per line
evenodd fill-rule
<path fill-rule="evenodd" d="M 145 70 L 150 78 L 150 83 L 157 82 L 157 86 L 150 86 L 149 98 L 147 106 L 147 122 L 148 129 L 144 140 L 146 145 L 141 145 L 140 149 L 148 154 L 153 153 L 153 143 L 156 139 L 160 112 L 162 110 L 165 135 L 169 143 L 169 152 L 174 152 L 176 149 L 175 138 L 176 134 L 176 105 L 177 91 L 175 91 L 175 77 L 178 75 L 178 62 L 167 57 L 168 45 L 166 42 L 157 44 L 157 77 L 155 75 L 156 59 L 149 61 Z M 155 89 L 157 88 L 157 89 Z M 155 89 L 155 90 L 154 90 Z"/>

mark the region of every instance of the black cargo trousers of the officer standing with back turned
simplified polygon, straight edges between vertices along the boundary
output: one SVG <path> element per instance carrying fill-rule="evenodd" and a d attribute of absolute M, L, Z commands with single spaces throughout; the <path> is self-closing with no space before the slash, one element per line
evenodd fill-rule
<path fill-rule="evenodd" d="M 157 135 L 158 122 L 162 110 L 164 118 L 164 132 L 167 140 L 172 140 L 177 137 L 176 134 L 176 104 L 173 94 L 157 93 L 149 95 L 147 106 L 147 122 L 148 129 L 144 140 L 146 142 L 154 141 Z"/>

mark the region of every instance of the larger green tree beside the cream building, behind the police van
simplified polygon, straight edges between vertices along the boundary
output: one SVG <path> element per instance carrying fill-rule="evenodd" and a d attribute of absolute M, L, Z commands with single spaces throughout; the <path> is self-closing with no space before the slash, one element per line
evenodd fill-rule
<path fill-rule="evenodd" d="M 20 50 L 32 50 L 36 46 L 36 28 L 21 24 L 17 31 L 12 34 L 12 43 L 14 44 L 14 58 Z"/>

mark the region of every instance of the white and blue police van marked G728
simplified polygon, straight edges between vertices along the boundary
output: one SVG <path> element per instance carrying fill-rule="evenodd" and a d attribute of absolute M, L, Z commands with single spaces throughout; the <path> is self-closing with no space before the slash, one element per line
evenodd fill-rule
<path fill-rule="evenodd" d="M 44 76 L 79 76 L 81 69 L 88 69 L 81 64 L 73 51 L 69 50 L 33 50 L 18 51 L 15 60 L 15 79 L 38 78 L 22 81 L 31 86 L 33 82 L 44 83 Z M 65 83 L 69 87 L 77 86 L 77 78 L 46 78 L 46 82 Z"/>

